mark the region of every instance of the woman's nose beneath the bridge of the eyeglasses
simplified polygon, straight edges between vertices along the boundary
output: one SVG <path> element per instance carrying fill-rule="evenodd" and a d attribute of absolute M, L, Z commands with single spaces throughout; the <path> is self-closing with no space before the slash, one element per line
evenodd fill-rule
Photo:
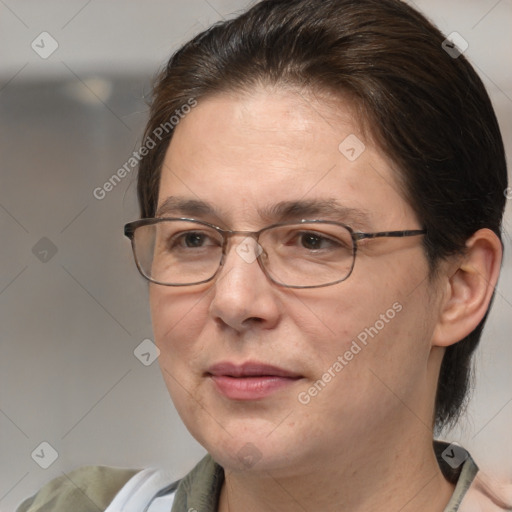
<path fill-rule="evenodd" d="M 261 252 L 254 238 L 233 237 L 215 278 L 210 314 L 239 332 L 255 325 L 270 329 L 281 315 L 275 285 L 257 261 Z"/>

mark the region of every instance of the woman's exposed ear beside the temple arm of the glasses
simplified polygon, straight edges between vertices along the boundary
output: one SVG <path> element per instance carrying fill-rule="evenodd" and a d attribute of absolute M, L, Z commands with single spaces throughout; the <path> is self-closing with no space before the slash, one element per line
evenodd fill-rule
<path fill-rule="evenodd" d="M 447 347 L 464 339 L 480 323 L 498 281 L 503 248 L 490 229 L 480 229 L 466 242 L 466 251 L 442 278 L 444 296 L 432 345 Z"/>

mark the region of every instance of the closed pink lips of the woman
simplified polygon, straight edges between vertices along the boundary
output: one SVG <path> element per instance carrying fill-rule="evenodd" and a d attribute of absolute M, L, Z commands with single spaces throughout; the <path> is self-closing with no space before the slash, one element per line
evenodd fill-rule
<path fill-rule="evenodd" d="M 284 368 L 254 361 L 218 363 L 207 370 L 206 376 L 231 400 L 259 400 L 302 378 Z"/>

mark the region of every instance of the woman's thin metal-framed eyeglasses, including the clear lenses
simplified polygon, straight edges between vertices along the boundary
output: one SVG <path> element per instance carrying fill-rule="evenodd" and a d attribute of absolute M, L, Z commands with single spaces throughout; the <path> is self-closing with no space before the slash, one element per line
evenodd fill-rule
<path fill-rule="evenodd" d="M 319 288 L 341 283 L 354 268 L 357 242 L 365 238 L 424 235 L 426 230 L 361 233 L 339 222 L 302 220 L 259 231 L 231 231 L 187 218 L 152 218 L 124 227 L 135 263 L 149 281 L 191 286 L 219 272 L 234 235 L 245 235 L 236 251 L 257 261 L 265 275 L 287 288 Z"/>

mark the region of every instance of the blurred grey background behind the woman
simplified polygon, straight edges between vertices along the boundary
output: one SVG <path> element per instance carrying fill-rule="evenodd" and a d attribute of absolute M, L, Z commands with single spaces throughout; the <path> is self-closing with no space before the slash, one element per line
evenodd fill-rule
<path fill-rule="evenodd" d="M 469 43 L 510 155 L 512 1 L 410 3 Z M 157 362 L 134 354 L 152 339 L 147 286 L 122 234 L 137 217 L 135 169 L 102 199 L 93 191 L 139 147 L 159 66 L 247 5 L 0 0 L 1 511 L 80 465 L 158 466 L 178 478 L 204 453 Z M 512 479 L 510 205 L 505 228 L 477 389 L 465 427 L 445 437 Z"/>

